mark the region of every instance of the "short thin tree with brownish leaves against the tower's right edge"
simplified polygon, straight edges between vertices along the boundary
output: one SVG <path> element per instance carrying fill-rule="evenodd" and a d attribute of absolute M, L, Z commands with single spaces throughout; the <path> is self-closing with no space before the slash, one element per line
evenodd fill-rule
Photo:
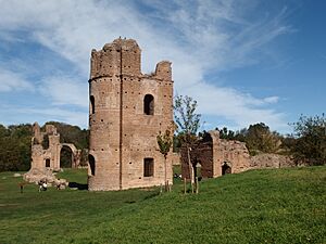
<path fill-rule="evenodd" d="M 162 132 L 160 131 L 160 133 L 156 137 L 156 140 L 160 147 L 160 152 L 164 156 L 164 181 L 165 181 L 165 191 L 167 191 L 170 185 L 166 179 L 166 174 L 167 174 L 166 157 L 173 144 L 173 132 L 171 132 L 170 129 L 166 129 L 165 132 L 162 134 Z"/>

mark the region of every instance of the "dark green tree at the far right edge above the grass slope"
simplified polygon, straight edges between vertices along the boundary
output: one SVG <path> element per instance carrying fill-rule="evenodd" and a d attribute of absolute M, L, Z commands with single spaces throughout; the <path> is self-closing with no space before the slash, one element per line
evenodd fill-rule
<path fill-rule="evenodd" d="M 301 115 L 293 126 L 297 140 L 292 154 L 297 164 L 326 164 L 326 117 L 306 117 Z"/>

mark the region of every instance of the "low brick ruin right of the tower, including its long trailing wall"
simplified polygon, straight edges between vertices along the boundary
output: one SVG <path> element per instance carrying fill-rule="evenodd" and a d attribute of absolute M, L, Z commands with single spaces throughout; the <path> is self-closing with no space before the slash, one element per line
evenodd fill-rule
<path fill-rule="evenodd" d="M 250 156 L 244 142 L 220 139 L 218 130 L 206 132 L 191 147 L 180 149 L 183 178 L 190 179 L 189 159 L 193 177 L 216 178 L 249 169 L 293 167 L 294 162 L 285 155 L 261 153 Z"/>

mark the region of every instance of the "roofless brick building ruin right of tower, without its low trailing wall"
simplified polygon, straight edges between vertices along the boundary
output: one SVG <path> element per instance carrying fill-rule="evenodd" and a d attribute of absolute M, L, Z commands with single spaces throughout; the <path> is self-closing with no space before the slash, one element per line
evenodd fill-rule
<path fill-rule="evenodd" d="M 217 130 L 205 133 L 191 149 L 186 145 L 181 147 L 181 172 L 186 179 L 190 179 L 188 153 L 195 177 L 216 178 L 250 168 L 250 155 L 246 143 L 220 139 Z"/>

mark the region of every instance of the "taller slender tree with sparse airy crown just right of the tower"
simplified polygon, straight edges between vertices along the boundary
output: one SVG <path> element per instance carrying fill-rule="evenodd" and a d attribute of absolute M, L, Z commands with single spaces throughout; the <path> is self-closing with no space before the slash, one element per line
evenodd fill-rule
<path fill-rule="evenodd" d="M 175 98 L 174 118 L 177 125 L 177 137 L 181 145 L 186 146 L 188 167 L 190 174 L 191 190 L 193 192 L 195 172 L 191 163 L 190 151 L 195 142 L 198 140 L 197 132 L 200 127 L 200 114 L 196 113 L 197 101 L 186 95 L 178 95 Z"/>

